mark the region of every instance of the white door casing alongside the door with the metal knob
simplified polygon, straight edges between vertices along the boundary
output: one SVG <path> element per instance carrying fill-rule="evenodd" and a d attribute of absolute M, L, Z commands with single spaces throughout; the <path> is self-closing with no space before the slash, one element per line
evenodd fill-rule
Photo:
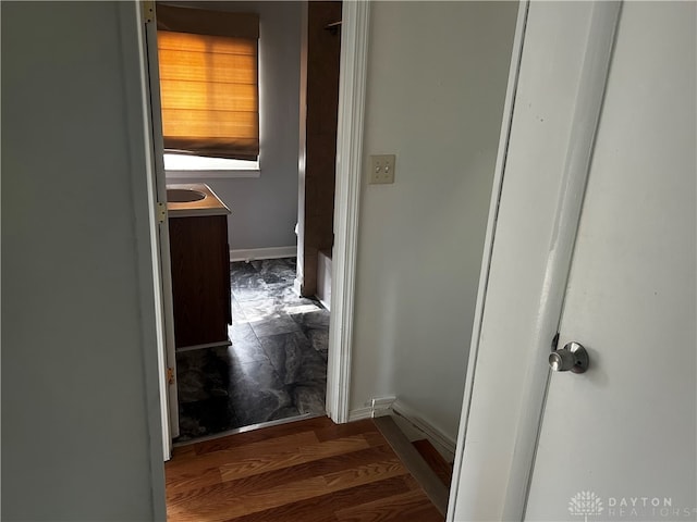
<path fill-rule="evenodd" d="M 572 116 L 563 122 L 568 140 L 558 179 L 550 185 L 549 177 L 527 173 L 531 175 L 526 177 L 524 190 L 509 190 L 502 197 L 504 178 L 510 175 L 506 156 L 533 5 L 522 2 L 518 12 L 448 521 L 525 518 L 549 383 L 546 361 L 562 314 L 621 8 L 620 2 L 586 4 L 590 10 L 589 29 L 583 44 Z M 530 206 L 530 194 L 538 206 Z M 503 210 L 519 211 L 526 219 L 502 223 L 499 216 Z M 541 216 L 549 227 L 533 229 L 527 225 L 530 215 Z M 541 248 L 534 251 L 536 245 Z M 529 279 L 521 288 L 505 290 L 509 297 L 515 294 L 515 299 L 488 302 L 493 284 L 503 273 L 515 272 L 514 265 L 521 262 L 529 263 Z M 534 309 L 536 323 L 516 328 L 510 318 L 521 302 Z M 485 322 L 505 324 L 501 330 L 508 332 L 500 338 L 482 336 Z"/>

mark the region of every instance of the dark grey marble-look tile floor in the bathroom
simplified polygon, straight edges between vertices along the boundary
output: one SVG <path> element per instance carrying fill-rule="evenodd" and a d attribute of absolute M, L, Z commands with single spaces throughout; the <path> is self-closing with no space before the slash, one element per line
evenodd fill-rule
<path fill-rule="evenodd" d="M 295 294 L 295 258 L 231 263 L 232 346 L 178 353 L 175 443 L 325 412 L 329 312 Z"/>

